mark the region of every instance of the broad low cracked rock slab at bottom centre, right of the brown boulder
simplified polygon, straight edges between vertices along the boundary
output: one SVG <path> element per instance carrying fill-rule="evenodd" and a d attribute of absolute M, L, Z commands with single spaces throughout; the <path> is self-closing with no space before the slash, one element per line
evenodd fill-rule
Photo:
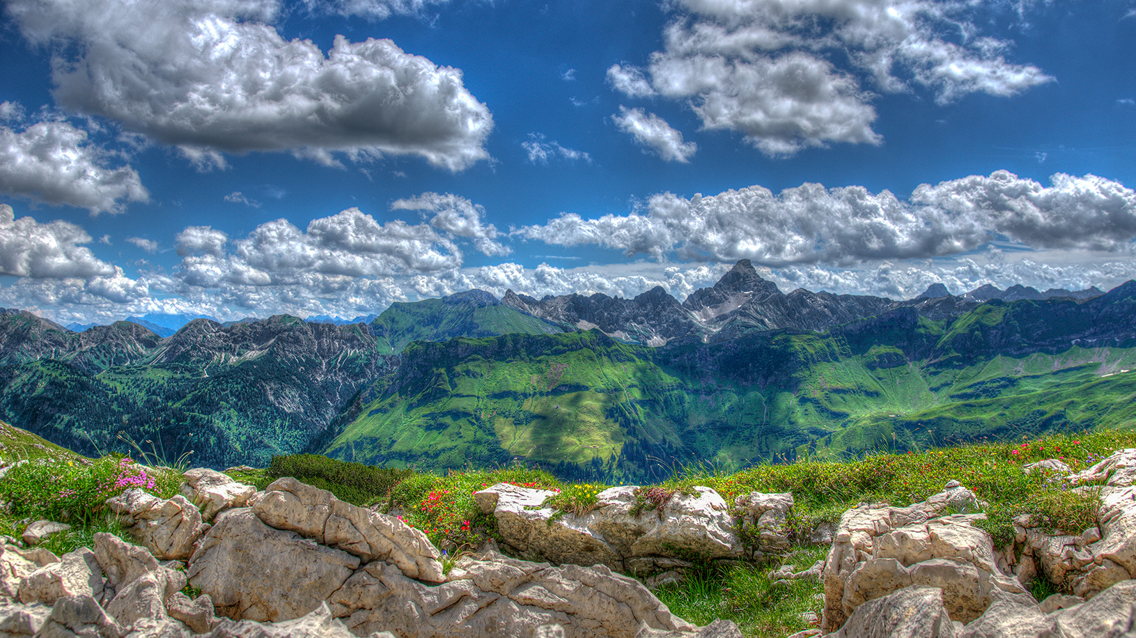
<path fill-rule="evenodd" d="M 643 627 L 694 629 L 638 581 L 607 568 L 554 568 L 496 553 L 459 560 L 450 581 L 437 586 L 375 561 L 331 603 L 358 636 L 384 628 L 416 638 L 528 636 L 535 627 L 559 624 L 568 636 L 633 638 Z"/>

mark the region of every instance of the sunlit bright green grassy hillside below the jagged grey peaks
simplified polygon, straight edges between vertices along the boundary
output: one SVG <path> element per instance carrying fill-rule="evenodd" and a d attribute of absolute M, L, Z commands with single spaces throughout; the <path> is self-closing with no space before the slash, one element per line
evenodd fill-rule
<path fill-rule="evenodd" d="M 1002 354 L 984 330 L 1003 328 L 1006 308 L 671 349 L 596 331 L 412 344 L 325 453 L 429 470 L 525 460 L 642 481 L 674 464 L 738 469 L 1136 422 L 1133 344 Z"/>

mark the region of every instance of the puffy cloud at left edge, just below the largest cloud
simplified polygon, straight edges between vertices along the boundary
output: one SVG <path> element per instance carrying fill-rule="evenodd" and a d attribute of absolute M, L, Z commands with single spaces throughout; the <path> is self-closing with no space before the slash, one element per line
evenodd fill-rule
<path fill-rule="evenodd" d="M 23 109 L 0 102 L 0 119 L 23 118 Z M 149 201 L 130 165 L 112 168 L 110 153 L 91 144 L 86 131 L 62 119 L 17 131 L 0 125 L 0 192 L 52 205 L 119 213 L 126 202 Z"/>

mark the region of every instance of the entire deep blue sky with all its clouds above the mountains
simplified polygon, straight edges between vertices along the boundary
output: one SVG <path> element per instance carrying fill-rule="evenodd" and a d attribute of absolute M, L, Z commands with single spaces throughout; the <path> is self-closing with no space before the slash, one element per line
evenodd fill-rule
<path fill-rule="evenodd" d="M 1130 1 L 2 0 L 0 305 L 1136 277 Z M 9 210 L 10 208 L 10 210 Z"/>

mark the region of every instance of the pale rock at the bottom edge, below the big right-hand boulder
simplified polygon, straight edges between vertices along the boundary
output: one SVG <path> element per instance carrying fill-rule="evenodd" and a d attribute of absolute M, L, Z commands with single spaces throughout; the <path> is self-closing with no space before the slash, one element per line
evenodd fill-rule
<path fill-rule="evenodd" d="M 904 587 L 860 605 L 830 638 L 955 638 L 935 587 Z"/>

